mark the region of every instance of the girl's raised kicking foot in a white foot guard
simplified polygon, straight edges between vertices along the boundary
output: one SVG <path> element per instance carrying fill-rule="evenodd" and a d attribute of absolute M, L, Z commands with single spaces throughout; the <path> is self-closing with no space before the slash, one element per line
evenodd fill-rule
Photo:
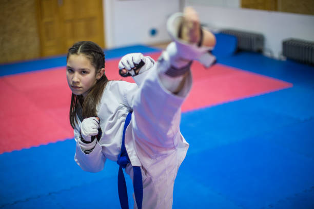
<path fill-rule="evenodd" d="M 171 15 L 167 21 L 167 30 L 173 42 L 162 57 L 166 59 L 168 56 L 171 66 L 181 71 L 177 73 L 170 69 L 170 76 L 184 74 L 192 60 L 200 61 L 205 67 L 214 63 L 215 57 L 210 51 L 215 46 L 215 37 L 201 27 L 199 16 L 193 8 L 187 7 L 184 13 Z"/>

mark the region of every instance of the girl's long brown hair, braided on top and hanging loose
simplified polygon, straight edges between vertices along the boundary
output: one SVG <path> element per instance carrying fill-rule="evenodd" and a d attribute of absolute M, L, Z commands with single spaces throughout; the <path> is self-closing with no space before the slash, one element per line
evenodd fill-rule
<path fill-rule="evenodd" d="M 79 41 L 75 43 L 68 50 L 67 61 L 71 54 L 84 54 L 91 62 L 91 65 L 95 67 L 96 74 L 105 68 L 105 54 L 102 48 L 92 41 Z M 75 95 L 72 93 L 71 105 L 70 105 L 70 124 L 74 129 L 75 123 L 77 123 L 76 115 L 78 118 L 88 118 L 97 116 L 96 108 L 99 104 L 103 91 L 107 85 L 108 78 L 105 73 L 98 79 L 95 85 L 90 89 L 86 98 L 83 95 Z"/>

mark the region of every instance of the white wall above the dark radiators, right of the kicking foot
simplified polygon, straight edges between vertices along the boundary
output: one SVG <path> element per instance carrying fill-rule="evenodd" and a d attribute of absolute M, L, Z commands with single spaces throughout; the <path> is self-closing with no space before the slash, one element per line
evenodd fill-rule
<path fill-rule="evenodd" d="M 185 5 L 197 10 L 201 22 L 209 28 L 233 28 L 262 33 L 265 37 L 266 55 L 270 55 L 268 50 L 271 50 L 276 58 L 282 52 L 283 39 L 294 37 L 314 41 L 314 15 L 240 9 L 239 0 L 224 1 L 227 1 L 224 7 L 204 4 L 202 0 L 186 0 Z"/>

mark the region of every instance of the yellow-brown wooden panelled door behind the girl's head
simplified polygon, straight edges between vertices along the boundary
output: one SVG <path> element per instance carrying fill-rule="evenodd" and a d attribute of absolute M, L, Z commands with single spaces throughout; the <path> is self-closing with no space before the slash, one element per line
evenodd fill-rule
<path fill-rule="evenodd" d="M 102 0 L 37 0 L 41 55 L 65 54 L 76 41 L 105 48 Z"/>

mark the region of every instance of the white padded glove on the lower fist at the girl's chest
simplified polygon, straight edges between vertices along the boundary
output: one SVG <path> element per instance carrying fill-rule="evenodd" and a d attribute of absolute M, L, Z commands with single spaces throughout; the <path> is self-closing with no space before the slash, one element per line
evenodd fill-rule
<path fill-rule="evenodd" d="M 81 123 L 81 135 L 85 141 L 91 142 L 91 137 L 98 134 L 99 120 L 96 117 L 85 118 Z"/>

